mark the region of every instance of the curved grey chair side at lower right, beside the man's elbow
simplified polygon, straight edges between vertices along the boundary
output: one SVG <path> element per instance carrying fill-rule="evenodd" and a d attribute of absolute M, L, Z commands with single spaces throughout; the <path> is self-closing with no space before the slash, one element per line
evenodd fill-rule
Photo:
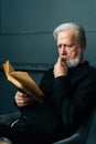
<path fill-rule="evenodd" d="M 88 119 L 79 126 L 79 128 L 72 136 L 54 142 L 53 144 L 86 144 L 94 116 L 95 110 L 93 110 Z"/>

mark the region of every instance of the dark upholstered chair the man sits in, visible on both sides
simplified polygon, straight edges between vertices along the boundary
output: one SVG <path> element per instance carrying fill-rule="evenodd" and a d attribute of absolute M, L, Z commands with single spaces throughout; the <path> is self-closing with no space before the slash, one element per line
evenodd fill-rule
<path fill-rule="evenodd" d="M 93 110 L 88 119 L 79 126 L 79 128 L 72 136 L 61 140 L 58 142 L 54 142 L 53 144 L 86 144 L 95 113 L 96 109 Z M 6 121 L 8 125 L 14 124 L 20 116 L 21 113 L 0 115 L 0 123 L 3 123 L 3 121 Z M 11 119 L 13 123 L 10 123 Z"/>

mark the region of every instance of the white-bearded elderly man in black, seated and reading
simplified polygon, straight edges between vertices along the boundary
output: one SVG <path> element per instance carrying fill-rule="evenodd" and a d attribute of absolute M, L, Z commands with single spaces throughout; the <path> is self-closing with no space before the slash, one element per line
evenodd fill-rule
<path fill-rule="evenodd" d="M 12 127 L 4 123 L 2 128 L 4 136 L 13 141 L 18 137 L 18 144 L 29 140 L 32 144 L 52 144 L 72 135 L 96 104 L 96 70 L 84 59 L 84 28 L 63 23 L 53 35 L 58 58 L 40 82 L 45 94 L 43 104 L 18 91 L 14 101 L 23 116 Z"/>

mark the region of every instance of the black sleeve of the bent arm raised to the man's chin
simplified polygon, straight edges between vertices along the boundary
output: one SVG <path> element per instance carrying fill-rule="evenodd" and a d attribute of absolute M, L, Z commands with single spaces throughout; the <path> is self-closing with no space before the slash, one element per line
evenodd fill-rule
<path fill-rule="evenodd" d="M 52 96 L 65 126 L 81 123 L 96 104 L 96 74 L 88 75 L 75 90 L 67 76 L 56 78 Z"/>

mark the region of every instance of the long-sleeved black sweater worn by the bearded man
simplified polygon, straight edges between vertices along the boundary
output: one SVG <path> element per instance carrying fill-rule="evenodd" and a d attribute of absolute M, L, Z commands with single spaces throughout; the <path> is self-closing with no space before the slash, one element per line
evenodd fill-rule
<path fill-rule="evenodd" d="M 68 69 L 67 76 L 54 78 L 50 69 L 40 88 L 45 94 L 44 102 L 23 107 L 25 122 L 43 136 L 57 141 L 74 133 L 96 104 L 96 70 L 85 62 Z"/>

